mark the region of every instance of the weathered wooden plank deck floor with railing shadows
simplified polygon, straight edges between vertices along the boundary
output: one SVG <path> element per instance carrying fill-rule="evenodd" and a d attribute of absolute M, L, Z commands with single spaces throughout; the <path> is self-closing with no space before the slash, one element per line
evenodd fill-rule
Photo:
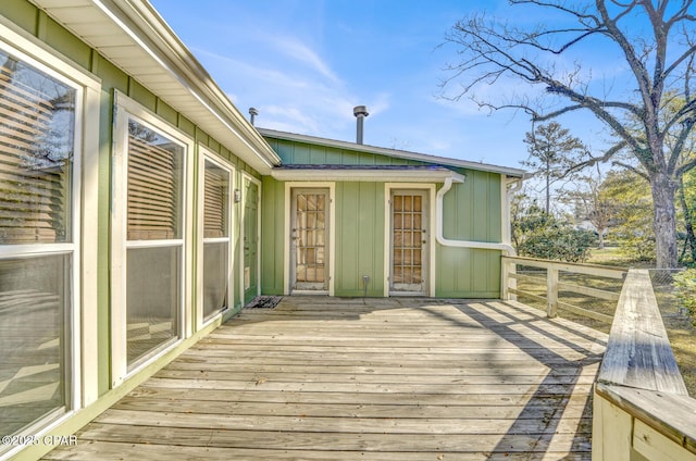
<path fill-rule="evenodd" d="M 514 301 L 285 298 L 46 459 L 589 459 L 606 342 Z"/>

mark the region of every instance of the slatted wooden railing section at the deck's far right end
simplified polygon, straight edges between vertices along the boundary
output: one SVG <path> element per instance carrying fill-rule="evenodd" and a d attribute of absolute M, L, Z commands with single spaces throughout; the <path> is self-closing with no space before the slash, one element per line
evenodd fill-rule
<path fill-rule="evenodd" d="M 546 277 L 539 271 L 539 275 L 522 274 L 518 272 L 517 266 L 537 267 L 546 270 Z M 622 279 L 626 270 L 623 267 L 608 267 L 596 264 L 576 264 L 561 261 L 549 261 L 535 258 L 522 257 L 502 257 L 502 299 L 511 299 L 513 296 L 520 295 L 533 300 L 546 303 L 546 314 L 555 317 L 558 314 L 558 308 L 572 312 L 576 315 L 595 319 L 601 322 L 611 323 L 612 316 L 606 313 L 596 312 L 585 309 L 559 299 L 559 292 L 574 292 L 579 295 L 598 298 L 605 301 L 616 302 L 619 300 L 619 291 L 595 288 L 576 283 L 561 282 L 559 273 L 584 274 L 593 277 L 606 277 L 613 279 Z M 530 290 L 522 290 L 517 287 L 517 282 L 532 283 L 546 286 L 546 296 L 534 294 Z"/>

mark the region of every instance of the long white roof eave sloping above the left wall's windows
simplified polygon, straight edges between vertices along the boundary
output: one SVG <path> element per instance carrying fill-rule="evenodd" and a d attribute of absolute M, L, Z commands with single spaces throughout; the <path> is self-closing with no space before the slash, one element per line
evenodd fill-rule
<path fill-rule="evenodd" d="M 65 4 L 30 1 L 254 170 L 269 174 L 281 163 L 271 146 L 146 0 L 82 0 Z M 94 34 L 95 24 L 89 22 L 94 17 L 108 23 L 109 40 L 99 43 L 96 38 L 103 37 L 89 35 Z M 137 63 L 130 53 L 123 52 L 135 46 L 146 53 L 138 57 Z M 144 72 L 138 74 L 134 68 Z M 163 95 L 165 86 L 167 95 Z"/>

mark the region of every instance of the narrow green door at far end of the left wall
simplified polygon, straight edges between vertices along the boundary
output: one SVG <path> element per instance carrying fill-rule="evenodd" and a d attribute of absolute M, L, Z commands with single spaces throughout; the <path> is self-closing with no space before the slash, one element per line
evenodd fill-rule
<path fill-rule="evenodd" d="M 259 295 L 259 185 L 244 179 L 244 303 Z"/>

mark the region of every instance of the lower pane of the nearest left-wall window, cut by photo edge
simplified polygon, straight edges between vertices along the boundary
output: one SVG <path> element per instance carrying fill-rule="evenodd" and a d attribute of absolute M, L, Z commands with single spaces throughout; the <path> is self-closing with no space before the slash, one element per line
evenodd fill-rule
<path fill-rule="evenodd" d="M 70 261 L 0 260 L 0 435 L 66 404 Z"/>

